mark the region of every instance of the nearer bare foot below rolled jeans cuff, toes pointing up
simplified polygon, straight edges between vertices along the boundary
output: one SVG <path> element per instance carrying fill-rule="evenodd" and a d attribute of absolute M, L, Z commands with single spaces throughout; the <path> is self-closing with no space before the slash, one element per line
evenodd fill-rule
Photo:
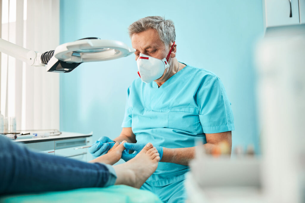
<path fill-rule="evenodd" d="M 158 150 L 148 143 L 135 158 L 113 166 L 117 173 L 116 185 L 124 184 L 140 188 L 157 169 L 160 156 Z"/>

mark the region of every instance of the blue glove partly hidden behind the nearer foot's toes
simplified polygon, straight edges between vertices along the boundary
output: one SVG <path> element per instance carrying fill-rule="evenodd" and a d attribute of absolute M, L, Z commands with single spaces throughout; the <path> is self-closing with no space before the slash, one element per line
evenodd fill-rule
<path fill-rule="evenodd" d="M 128 161 L 132 158 L 134 158 L 147 144 L 143 144 L 143 143 L 128 143 L 125 142 L 124 143 L 124 147 L 126 148 L 123 153 L 122 153 L 122 159 L 124 161 Z M 163 156 L 163 147 L 159 147 L 159 146 L 154 146 L 156 147 L 156 149 L 159 152 L 159 156 L 160 156 L 160 160 L 162 159 Z M 129 154 L 129 150 L 135 151 L 132 154 Z"/>

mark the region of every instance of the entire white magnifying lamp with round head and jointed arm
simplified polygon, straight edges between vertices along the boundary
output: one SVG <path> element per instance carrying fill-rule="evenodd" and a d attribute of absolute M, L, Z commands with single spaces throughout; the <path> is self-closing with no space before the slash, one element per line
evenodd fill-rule
<path fill-rule="evenodd" d="M 17 58 L 28 65 L 46 66 L 48 72 L 71 72 L 84 62 L 108 61 L 129 56 L 134 48 L 116 40 L 88 37 L 68 42 L 55 50 L 39 53 L 0 38 L 0 52 Z"/>

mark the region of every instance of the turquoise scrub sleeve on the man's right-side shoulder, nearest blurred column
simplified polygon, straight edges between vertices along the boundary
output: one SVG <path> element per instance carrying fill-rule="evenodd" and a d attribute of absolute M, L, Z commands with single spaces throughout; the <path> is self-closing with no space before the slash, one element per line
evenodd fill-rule
<path fill-rule="evenodd" d="M 214 76 L 201 87 L 196 95 L 199 120 L 204 133 L 235 130 L 231 103 L 221 80 Z"/>

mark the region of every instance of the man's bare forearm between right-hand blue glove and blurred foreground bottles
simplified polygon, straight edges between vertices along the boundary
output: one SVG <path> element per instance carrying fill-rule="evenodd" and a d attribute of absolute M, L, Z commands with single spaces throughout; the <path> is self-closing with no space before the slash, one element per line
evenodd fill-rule
<path fill-rule="evenodd" d="M 206 153 L 210 154 L 213 151 L 214 147 L 217 147 L 216 144 L 206 143 L 203 145 Z M 163 156 L 160 162 L 169 162 L 177 163 L 181 165 L 188 166 L 190 160 L 195 157 L 195 147 L 186 147 L 186 148 L 165 148 L 163 147 Z"/>

